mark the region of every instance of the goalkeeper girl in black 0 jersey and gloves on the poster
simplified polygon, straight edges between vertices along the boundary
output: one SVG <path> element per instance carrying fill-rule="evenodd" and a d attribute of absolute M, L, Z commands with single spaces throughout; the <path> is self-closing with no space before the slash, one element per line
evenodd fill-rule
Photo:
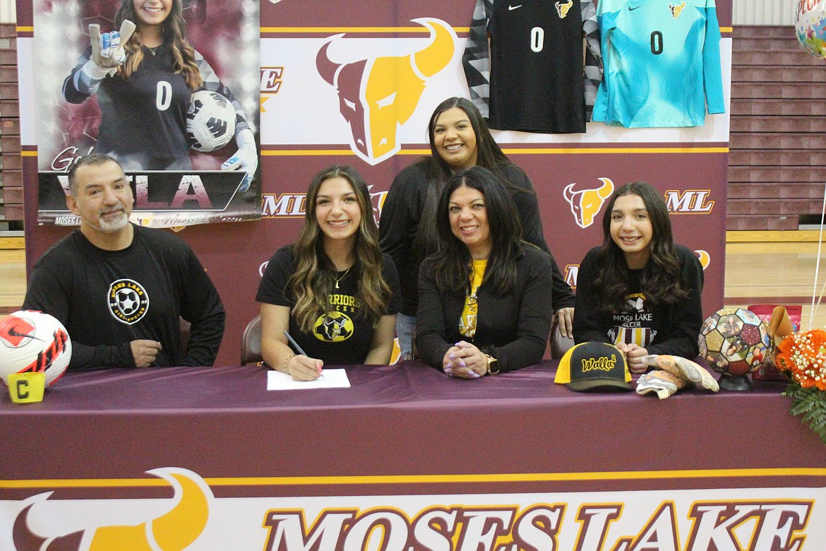
<path fill-rule="evenodd" d="M 97 96 L 95 152 L 112 155 L 126 170 L 191 170 L 187 110 L 192 93 L 206 89 L 235 107 L 238 151 L 221 169 L 243 170 L 241 191 L 249 188 L 258 168 L 253 132 L 240 102 L 189 44 L 181 0 L 121 0 L 115 26 L 125 36 L 89 26 L 93 43 L 63 85 L 69 103 Z"/>

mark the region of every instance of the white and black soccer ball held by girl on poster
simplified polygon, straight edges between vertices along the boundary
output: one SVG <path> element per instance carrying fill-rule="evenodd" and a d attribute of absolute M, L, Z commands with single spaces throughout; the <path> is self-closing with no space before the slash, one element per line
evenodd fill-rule
<path fill-rule="evenodd" d="M 235 135 L 235 107 L 220 93 L 193 93 L 187 111 L 187 135 L 193 150 L 221 149 Z"/>

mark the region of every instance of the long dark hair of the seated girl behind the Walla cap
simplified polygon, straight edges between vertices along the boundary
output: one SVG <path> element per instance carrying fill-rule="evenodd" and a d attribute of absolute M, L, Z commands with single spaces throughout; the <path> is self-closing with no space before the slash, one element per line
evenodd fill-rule
<path fill-rule="evenodd" d="M 593 305 L 605 311 L 623 311 L 629 288 L 629 268 L 625 254 L 611 238 L 611 211 L 619 197 L 637 195 L 643 199 L 651 221 L 652 236 L 648 245 L 651 254 L 643 269 L 640 284 L 646 300 L 652 306 L 659 303 L 674 304 L 689 296 L 681 286 L 680 259 L 677 257 L 672 237 L 671 219 L 665 200 L 657 189 L 647 182 L 626 183 L 611 195 L 602 216 L 603 242 L 599 252 L 600 270 L 594 280 L 594 293 L 601 297 L 600 304 Z"/>

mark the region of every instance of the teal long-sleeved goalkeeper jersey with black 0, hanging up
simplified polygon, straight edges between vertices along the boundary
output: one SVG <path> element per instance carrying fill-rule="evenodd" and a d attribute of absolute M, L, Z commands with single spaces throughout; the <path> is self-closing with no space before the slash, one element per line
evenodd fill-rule
<path fill-rule="evenodd" d="M 594 121 L 702 126 L 725 112 L 714 0 L 600 0 L 605 74 Z"/>

